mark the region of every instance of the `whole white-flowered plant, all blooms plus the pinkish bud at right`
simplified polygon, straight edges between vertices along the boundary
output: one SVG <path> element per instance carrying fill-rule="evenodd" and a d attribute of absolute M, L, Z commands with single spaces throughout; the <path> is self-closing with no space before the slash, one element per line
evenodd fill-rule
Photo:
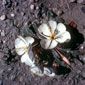
<path fill-rule="evenodd" d="M 50 20 L 47 23 L 42 23 L 36 31 L 38 36 L 38 45 L 44 50 L 54 50 L 59 54 L 64 62 L 70 65 L 69 60 L 59 51 L 58 43 L 64 43 L 71 39 L 71 35 L 66 31 L 66 26 L 63 23 L 57 23 Z M 35 53 L 33 52 L 33 43 L 36 41 L 35 37 L 22 37 L 18 36 L 15 40 L 15 50 L 21 56 L 21 62 L 30 67 L 30 71 L 38 76 L 55 76 L 52 68 L 43 66 L 39 68 L 35 61 Z M 36 46 L 37 47 L 37 46 Z M 39 55 L 37 55 L 39 57 Z"/>

